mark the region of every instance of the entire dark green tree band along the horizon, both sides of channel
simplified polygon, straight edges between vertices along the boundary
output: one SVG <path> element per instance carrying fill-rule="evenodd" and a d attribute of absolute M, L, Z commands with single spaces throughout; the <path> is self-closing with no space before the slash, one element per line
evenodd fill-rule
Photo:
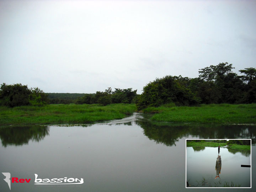
<path fill-rule="evenodd" d="M 255 103 L 256 69 L 239 70 L 242 75 L 232 72 L 232 64 L 219 63 L 199 69 L 198 78 L 167 75 L 156 78 L 137 90 L 108 87 L 94 94 L 44 93 L 37 88 L 28 89 L 27 85 L 1 84 L 0 105 L 15 107 L 20 105 L 43 106 L 46 104 L 94 104 L 136 103 L 138 110 L 158 107 L 166 103 L 177 106 L 191 106 L 200 103 Z"/>

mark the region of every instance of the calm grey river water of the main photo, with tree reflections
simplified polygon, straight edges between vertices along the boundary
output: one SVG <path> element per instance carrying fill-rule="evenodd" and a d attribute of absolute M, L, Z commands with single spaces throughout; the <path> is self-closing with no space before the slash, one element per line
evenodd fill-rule
<path fill-rule="evenodd" d="M 10 173 L 11 191 L 19 192 L 225 191 L 186 188 L 186 139 L 245 138 L 255 143 L 255 135 L 256 126 L 156 123 L 140 113 L 87 125 L 0 127 L 0 172 L 5 173 L 0 173 L 0 189 L 10 191 L 8 180 L 4 180 L 6 173 Z M 187 151 L 191 155 L 212 154 L 208 149 L 194 152 L 193 148 L 187 148 Z M 232 158 L 224 158 L 225 153 L 228 151 L 221 149 L 222 180 L 226 175 L 224 170 L 228 170 L 228 159 Z M 255 153 L 253 145 L 252 181 L 256 179 Z M 210 158 L 213 165 L 204 160 L 211 171 L 206 178 L 215 177 L 217 155 L 213 152 Z M 235 168 L 234 171 L 240 174 Z M 190 182 L 193 175 L 187 175 Z M 82 180 L 82 184 L 71 184 Z M 62 183 L 56 185 L 57 181 Z M 232 191 L 255 188 L 256 183 L 252 182 L 252 188 Z"/>

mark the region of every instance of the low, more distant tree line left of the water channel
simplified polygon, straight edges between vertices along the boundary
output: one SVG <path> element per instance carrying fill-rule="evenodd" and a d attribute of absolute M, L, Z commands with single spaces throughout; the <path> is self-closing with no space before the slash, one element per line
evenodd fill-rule
<path fill-rule="evenodd" d="M 14 84 L 0 87 L 0 105 L 15 106 L 43 106 L 47 104 L 95 104 L 108 105 L 111 103 L 135 103 L 137 90 L 118 89 L 112 91 L 108 87 L 104 92 L 96 91 L 95 94 L 69 94 L 69 93 L 44 93 L 37 88 L 28 89 L 27 85 Z"/>

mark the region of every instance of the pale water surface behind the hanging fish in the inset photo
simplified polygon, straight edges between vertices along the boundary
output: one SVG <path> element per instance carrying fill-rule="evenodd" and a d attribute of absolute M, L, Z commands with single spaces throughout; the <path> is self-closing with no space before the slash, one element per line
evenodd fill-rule
<path fill-rule="evenodd" d="M 226 182 L 241 187 L 251 187 L 251 151 L 220 148 L 222 167 L 219 178 L 215 170 L 218 147 L 198 150 L 187 147 L 187 181 L 191 187 L 222 187 Z"/>

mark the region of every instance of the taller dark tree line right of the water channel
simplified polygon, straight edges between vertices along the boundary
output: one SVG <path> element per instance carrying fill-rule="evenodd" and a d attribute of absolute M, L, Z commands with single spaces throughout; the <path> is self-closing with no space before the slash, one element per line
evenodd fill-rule
<path fill-rule="evenodd" d="M 239 70 L 243 74 L 240 76 L 232 69 L 232 64 L 219 63 L 199 69 L 198 78 L 181 75 L 156 78 L 143 87 L 137 108 L 158 107 L 171 102 L 177 106 L 256 102 L 256 69 Z"/>

